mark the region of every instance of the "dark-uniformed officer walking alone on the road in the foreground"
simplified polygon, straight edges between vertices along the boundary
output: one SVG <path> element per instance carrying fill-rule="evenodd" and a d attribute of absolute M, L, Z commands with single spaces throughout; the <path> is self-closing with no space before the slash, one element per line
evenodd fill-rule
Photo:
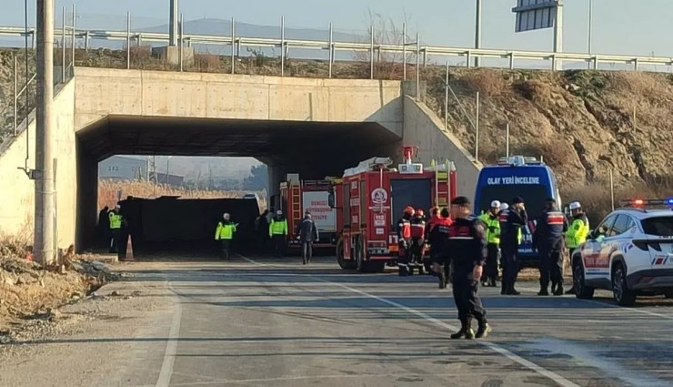
<path fill-rule="evenodd" d="M 485 338 L 491 329 L 477 290 L 488 255 L 486 225 L 472 215 L 466 197 L 451 201 L 451 216 L 455 221 L 448 234 L 447 255 L 453 261 L 453 297 L 460 321 L 460 331 L 451 339 Z M 472 331 L 472 319 L 477 320 L 477 334 Z"/>

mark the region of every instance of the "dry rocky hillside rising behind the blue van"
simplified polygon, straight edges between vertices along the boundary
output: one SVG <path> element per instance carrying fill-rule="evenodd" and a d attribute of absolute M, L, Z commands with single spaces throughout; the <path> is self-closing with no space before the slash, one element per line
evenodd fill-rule
<path fill-rule="evenodd" d="M 427 104 L 443 117 L 445 75 L 436 71 L 427 74 Z M 449 83 L 468 114 L 479 91 L 481 161 L 504 156 L 508 122 L 510 153 L 544 156 L 567 198 L 605 193 L 610 170 L 618 194 L 673 187 L 669 74 L 458 69 Z M 448 114 L 449 130 L 472 152 L 475 131 L 454 97 Z"/>

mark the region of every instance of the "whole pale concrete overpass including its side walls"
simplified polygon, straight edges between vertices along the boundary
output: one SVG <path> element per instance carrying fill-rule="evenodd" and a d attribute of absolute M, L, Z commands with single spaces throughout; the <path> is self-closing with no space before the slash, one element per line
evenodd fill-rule
<path fill-rule="evenodd" d="M 75 69 L 55 96 L 58 247 L 79 249 L 96 222 L 97 163 L 116 154 L 255 157 L 270 187 L 287 173 L 338 176 L 373 156 L 417 145 L 424 162 L 446 157 L 471 195 L 478 163 L 423 104 L 415 83 Z M 0 146 L 0 233 L 32 230 L 35 122 Z M 31 153 L 32 152 L 32 153 Z"/>

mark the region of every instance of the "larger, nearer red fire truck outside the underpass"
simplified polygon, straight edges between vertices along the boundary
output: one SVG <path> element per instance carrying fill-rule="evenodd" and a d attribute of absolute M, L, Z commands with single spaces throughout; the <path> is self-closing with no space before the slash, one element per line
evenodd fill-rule
<path fill-rule="evenodd" d="M 446 207 L 457 196 L 453 162 L 428 168 L 412 162 L 416 147 L 404 147 L 404 164 L 370 158 L 347 169 L 330 192 L 336 209 L 336 261 L 342 269 L 381 272 L 397 260 L 396 222 L 403 209 Z"/>

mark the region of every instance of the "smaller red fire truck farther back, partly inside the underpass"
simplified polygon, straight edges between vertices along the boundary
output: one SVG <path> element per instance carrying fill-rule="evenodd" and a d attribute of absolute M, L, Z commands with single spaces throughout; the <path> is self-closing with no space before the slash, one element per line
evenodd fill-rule
<path fill-rule="evenodd" d="M 280 208 L 287 217 L 287 246 L 301 247 L 296 229 L 308 211 L 316 223 L 319 239 L 316 248 L 334 247 L 336 243 L 336 210 L 327 202 L 332 182 L 325 180 L 301 180 L 297 174 L 288 174 L 287 181 L 280 183 Z"/>

